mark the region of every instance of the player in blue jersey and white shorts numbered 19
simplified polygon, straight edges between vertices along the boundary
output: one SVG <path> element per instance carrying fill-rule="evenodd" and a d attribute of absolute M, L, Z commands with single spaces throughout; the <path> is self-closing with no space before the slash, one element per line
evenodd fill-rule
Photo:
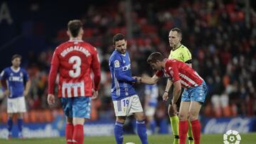
<path fill-rule="evenodd" d="M 133 84 L 137 79 L 132 78 L 131 60 L 127 52 L 127 40 L 124 35 L 118 33 L 113 38 L 114 52 L 110 56 L 109 66 L 112 77 L 111 96 L 114 104 L 114 113 L 117 116 L 114 125 L 114 137 L 117 144 L 122 144 L 123 125 L 127 116 L 134 114 L 142 144 L 147 144 L 145 115 L 139 96 L 134 90 Z"/>

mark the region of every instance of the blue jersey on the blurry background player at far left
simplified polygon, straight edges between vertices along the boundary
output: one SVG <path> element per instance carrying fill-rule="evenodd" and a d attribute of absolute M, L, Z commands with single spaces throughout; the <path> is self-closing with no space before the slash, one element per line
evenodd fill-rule
<path fill-rule="evenodd" d="M 23 96 L 24 83 L 28 81 L 28 73 L 26 70 L 21 67 L 19 67 L 18 70 L 6 67 L 1 72 L 1 79 L 6 79 L 6 84 L 10 91 L 10 99 Z"/>

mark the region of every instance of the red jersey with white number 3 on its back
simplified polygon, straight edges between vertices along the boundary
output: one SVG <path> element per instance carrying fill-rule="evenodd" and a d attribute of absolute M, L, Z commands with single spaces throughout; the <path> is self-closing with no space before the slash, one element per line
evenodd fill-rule
<path fill-rule="evenodd" d="M 58 97 L 92 96 L 91 70 L 94 89 L 100 85 L 100 61 L 95 47 L 82 40 L 69 40 L 59 45 L 51 60 L 48 94 L 53 94 L 59 72 Z"/>

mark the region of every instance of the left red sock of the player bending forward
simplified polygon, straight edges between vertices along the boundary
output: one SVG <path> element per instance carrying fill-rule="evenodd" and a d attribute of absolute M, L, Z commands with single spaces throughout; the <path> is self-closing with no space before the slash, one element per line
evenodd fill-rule
<path fill-rule="evenodd" d="M 179 121 L 178 123 L 179 144 L 186 144 L 187 133 L 188 133 L 188 121 Z"/>

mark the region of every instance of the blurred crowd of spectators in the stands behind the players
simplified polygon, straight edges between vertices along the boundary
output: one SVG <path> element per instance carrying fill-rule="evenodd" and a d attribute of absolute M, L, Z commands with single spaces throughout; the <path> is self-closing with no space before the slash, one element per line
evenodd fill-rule
<path fill-rule="evenodd" d="M 130 9 L 129 9 L 130 8 Z M 92 43 L 100 54 L 102 81 L 100 97 L 92 103 L 92 119 L 114 118 L 110 96 L 108 59 L 112 37 L 127 35 L 128 51 L 134 75 L 154 74 L 146 63 L 154 51 L 169 55 L 168 35 L 171 28 L 180 28 L 181 43 L 191 51 L 193 69 L 208 84 L 203 116 L 256 115 L 256 13 L 247 9 L 245 1 L 110 1 L 104 6 L 90 6 L 82 14 L 84 40 Z M 129 14 L 128 14 L 129 13 Z M 248 21 L 245 21 L 248 20 Z M 68 40 L 66 28 L 56 31 L 53 45 Z M 46 102 L 48 72 L 54 47 L 43 52 L 28 52 L 23 59 L 32 87 L 27 99 L 28 110 L 49 109 Z M 166 114 L 161 101 L 166 81 L 159 82 L 159 117 Z M 136 86 L 144 96 L 144 86 Z M 0 94 L 2 95 L 2 94 Z M 171 96 L 171 95 L 170 95 Z M 1 97 L 0 110 L 6 100 Z M 58 104 L 54 108 L 58 109 Z M 166 114 L 167 116 L 167 114 Z"/>

